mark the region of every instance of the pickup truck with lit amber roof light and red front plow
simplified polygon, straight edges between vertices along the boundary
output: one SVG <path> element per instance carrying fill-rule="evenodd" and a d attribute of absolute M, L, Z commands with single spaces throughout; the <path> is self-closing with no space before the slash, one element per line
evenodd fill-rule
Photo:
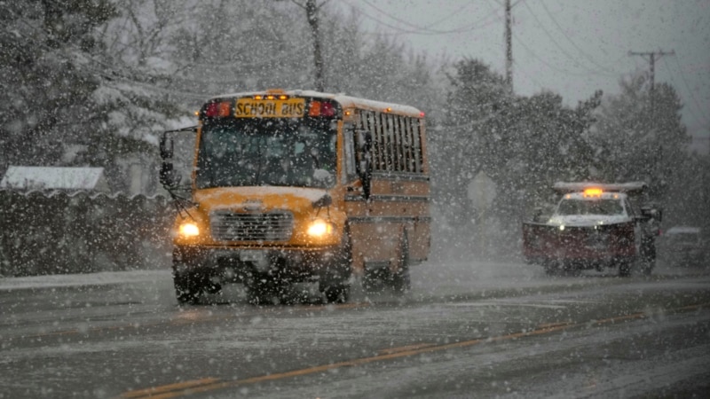
<path fill-rule="evenodd" d="M 548 275 L 618 268 L 627 277 L 637 266 L 650 275 L 655 266 L 655 237 L 660 211 L 638 207 L 646 184 L 564 183 L 552 215 L 523 223 L 526 262 Z"/>

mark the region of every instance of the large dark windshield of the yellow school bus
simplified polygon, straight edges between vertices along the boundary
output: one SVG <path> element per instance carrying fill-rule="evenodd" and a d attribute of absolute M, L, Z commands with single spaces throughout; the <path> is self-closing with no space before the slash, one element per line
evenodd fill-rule
<path fill-rule="evenodd" d="M 205 121 L 195 184 L 327 188 L 335 183 L 336 126 L 306 118 Z"/>

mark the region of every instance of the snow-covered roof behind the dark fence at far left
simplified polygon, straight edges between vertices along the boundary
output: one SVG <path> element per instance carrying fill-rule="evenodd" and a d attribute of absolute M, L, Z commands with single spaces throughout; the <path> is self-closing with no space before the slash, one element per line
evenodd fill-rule
<path fill-rule="evenodd" d="M 104 168 L 11 166 L 0 188 L 23 190 L 99 190 Z"/>

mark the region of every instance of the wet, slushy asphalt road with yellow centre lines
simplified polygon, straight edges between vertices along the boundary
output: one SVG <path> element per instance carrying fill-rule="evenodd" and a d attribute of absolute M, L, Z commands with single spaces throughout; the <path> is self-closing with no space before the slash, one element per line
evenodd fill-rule
<path fill-rule="evenodd" d="M 550 278 L 424 264 L 400 297 L 354 287 L 263 307 L 241 287 L 178 307 L 164 270 L 0 282 L 0 397 L 702 397 L 710 270 Z"/>

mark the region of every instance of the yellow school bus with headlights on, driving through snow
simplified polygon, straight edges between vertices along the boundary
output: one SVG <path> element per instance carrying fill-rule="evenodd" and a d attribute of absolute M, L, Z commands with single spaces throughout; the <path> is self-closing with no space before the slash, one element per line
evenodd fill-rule
<path fill-rule="evenodd" d="M 194 128 L 189 205 L 174 226 L 177 301 L 241 283 L 249 301 L 279 301 L 316 282 L 325 301 L 410 288 L 430 251 L 424 114 L 310 90 L 211 98 Z M 172 138 L 161 182 L 174 189 Z"/>

